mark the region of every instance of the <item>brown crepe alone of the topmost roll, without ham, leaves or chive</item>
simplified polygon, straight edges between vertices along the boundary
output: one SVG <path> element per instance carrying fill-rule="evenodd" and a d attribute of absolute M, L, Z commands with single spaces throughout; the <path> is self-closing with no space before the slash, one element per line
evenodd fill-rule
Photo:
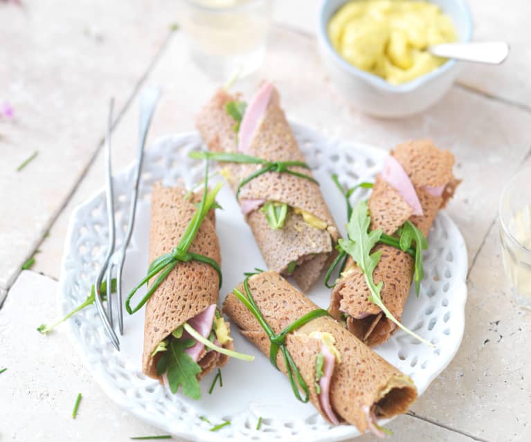
<path fill-rule="evenodd" d="M 220 89 L 197 116 L 196 127 L 210 151 L 238 151 L 237 134 L 233 129 L 235 120 L 225 109 L 228 102 L 237 100 L 240 100 L 240 95 Z M 270 161 L 305 161 L 280 108 L 278 92 L 275 89 L 244 153 Z M 236 192 L 239 183 L 262 165 L 223 163 L 222 167 L 228 172 L 228 181 Z M 303 167 L 290 169 L 312 176 L 312 173 Z M 265 214 L 260 212 L 260 206 L 265 201 L 287 203 L 291 208 L 305 210 L 324 221 L 327 228 L 315 228 L 306 223 L 300 214 L 289 210 L 284 227 L 273 230 L 269 227 Z M 293 277 L 300 288 L 306 291 L 334 259 L 334 246 L 338 238 L 332 214 L 318 185 L 305 178 L 267 172 L 242 187 L 239 202 L 242 209 L 245 206 L 252 207 L 246 214 L 246 222 L 253 231 L 268 268 L 278 273 L 287 273 L 289 264 L 296 261 L 298 265 Z"/>

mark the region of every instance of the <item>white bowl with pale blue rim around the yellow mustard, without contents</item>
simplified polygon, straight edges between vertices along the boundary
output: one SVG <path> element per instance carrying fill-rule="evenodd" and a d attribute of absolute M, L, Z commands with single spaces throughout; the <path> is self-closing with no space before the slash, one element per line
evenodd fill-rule
<path fill-rule="evenodd" d="M 327 24 L 347 0 L 325 0 L 319 12 L 318 40 L 323 64 L 337 88 L 364 113 L 384 118 L 401 118 L 419 113 L 440 100 L 456 79 L 460 64 L 449 60 L 434 71 L 404 84 L 390 84 L 381 77 L 352 66 L 333 48 Z M 469 42 L 472 21 L 463 0 L 434 0 L 456 26 L 460 42 Z"/>

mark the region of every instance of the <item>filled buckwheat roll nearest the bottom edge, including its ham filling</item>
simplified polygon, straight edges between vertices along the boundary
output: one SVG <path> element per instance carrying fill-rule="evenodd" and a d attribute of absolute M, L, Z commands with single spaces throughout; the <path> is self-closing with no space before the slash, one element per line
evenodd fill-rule
<path fill-rule="evenodd" d="M 226 297 L 223 306 L 242 334 L 270 360 L 271 336 L 252 308 L 235 293 L 243 294 L 246 300 L 252 298 L 252 304 L 275 335 L 298 322 L 285 340 L 275 340 L 280 351 L 273 360 L 282 373 L 291 374 L 293 379 L 302 377 L 304 385 L 298 382 L 295 388 L 305 392 L 330 423 L 350 423 L 361 432 L 370 429 L 381 435 L 376 419 L 406 412 L 417 397 L 411 378 L 274 272 L 249 277 Z M 308 320 L 309 316 L 312 317 Z"/>

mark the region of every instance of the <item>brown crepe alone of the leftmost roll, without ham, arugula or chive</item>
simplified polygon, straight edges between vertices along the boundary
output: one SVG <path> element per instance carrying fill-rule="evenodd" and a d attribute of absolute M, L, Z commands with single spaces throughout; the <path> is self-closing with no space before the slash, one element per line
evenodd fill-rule
<path fill-rule="evenodd" d="M 171 252 L 177 246 L 196 212 L 197 207 L 194 203 L 201 201 L 201 194 L 192 194 L 189 199 L 184 199 L 185 194 L 186 190 L 179 187 L 154 185 L 151 204 L 150 262 Z M 214 210 L 210 210 L 201 223 L 188 251 L 205 255 L 221 265 Z M 217 304 L 218 297 L 219 276 L 211 266 L 198 261 L 179 262 L 175 266 L 145 306 L 142 356 L 142 371 L 145 375 L 161 379 L 156 373 L 156 362 L 162 353 L 156 353 L 152 358 L 154 349 L 184 322 L 203 312 L 208 306 Z M 232 342 L 227 342 L 223 347 L 232 349 Z M 198 378 L 215 367 L 221 367 L 227 359 L 227 356 L 216 351 L 207 353 L 203 350 L 197 361 L 202 369 Z"/>

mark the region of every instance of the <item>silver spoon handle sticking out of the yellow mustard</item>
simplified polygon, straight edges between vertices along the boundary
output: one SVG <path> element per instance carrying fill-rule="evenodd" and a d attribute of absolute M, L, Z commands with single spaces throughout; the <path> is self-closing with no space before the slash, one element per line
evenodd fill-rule
<path fill-rule="evenodd" d="M 501 64 L 509 54 L 509 45 L 505 42 L 445 43 L 434 44 L 428 50 L 439 57 L 465 62 Z"/>

